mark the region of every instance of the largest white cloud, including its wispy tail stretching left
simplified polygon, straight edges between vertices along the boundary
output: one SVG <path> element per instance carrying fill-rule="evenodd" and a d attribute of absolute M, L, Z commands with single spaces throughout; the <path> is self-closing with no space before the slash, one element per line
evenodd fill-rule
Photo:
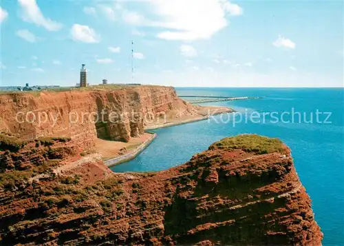
<path fill-rule="evenodd" d="M 110 19 L 115 14 L 121 14 L 123 21 L 136 26 L 148 26 L 158 28 L 158 37 L 167 40 L 193 41 L 197 39 L 209 39 L 219 30 L 228 25 L 227 17 L 237 16 L 243 10 L 237 4 L 230 1 L 218 0 L 154 0 L 145 1 L 149 18 L 140 12 L 103 6 Z M 160 31 L 162 30 L 162 31 Z"/>

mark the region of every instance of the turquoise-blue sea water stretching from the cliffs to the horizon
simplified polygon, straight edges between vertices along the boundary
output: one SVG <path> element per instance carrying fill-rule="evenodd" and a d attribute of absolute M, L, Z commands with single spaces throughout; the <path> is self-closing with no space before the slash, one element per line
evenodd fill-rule
<path fill-rule="evenodd" d="M 208 121 L 155 130 L 155 141 L 133 161 L 112 167 L 114 172 L 166 170 L 189 161 L 193 154 L 226 136 L 255 133 L 277 137 L 292 150 L 294 165 L 324 233 L 323 245 L 344 245 L 343 89 L 177 88 L 177 92 L 261 99 L 203 104 L 232 107 L 241 116 L 215 116 Z M 263 113 L 269 113 L 265 119 Z"/>

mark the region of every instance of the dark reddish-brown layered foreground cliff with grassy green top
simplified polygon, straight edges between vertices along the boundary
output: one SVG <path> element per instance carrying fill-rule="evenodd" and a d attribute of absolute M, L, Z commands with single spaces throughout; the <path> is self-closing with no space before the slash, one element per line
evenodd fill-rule
<path fill-rule="evenodd" d="M 290 150 L 277 139 L 223 139 L 184 165 L 144 174 L 79 160 L 65 139 L 7 143 L 19 150 L 1 152 L 12 163 L 0 175 L 3 245 L 321 244 Z"/>

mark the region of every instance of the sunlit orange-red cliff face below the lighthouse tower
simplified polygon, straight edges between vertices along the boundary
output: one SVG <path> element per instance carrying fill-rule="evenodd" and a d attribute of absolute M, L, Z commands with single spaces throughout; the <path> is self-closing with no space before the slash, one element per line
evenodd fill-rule
<path fill-rule="evenodd" d="M 162 86 L 38 93 L 0 94 L 0 131 L 23 139 L 72 137 L 80 147 L 90 149 L 97 136 L 129 141 L 162 114 L 197 111 L 179 99 L 173 88 Z"/>

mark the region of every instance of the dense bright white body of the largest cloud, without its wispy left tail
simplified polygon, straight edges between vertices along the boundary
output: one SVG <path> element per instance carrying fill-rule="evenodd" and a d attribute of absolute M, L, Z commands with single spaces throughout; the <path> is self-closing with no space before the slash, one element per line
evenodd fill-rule
<path fill-rule="evenodd" d="M 227 15 L 242 13 L 236 4 L 218 0 L 156 0 L 151 4 L 161 21 L 149 25 L 167 28 L 158 34 L 167 40 L 209 39 L 228 25 Z"/>

